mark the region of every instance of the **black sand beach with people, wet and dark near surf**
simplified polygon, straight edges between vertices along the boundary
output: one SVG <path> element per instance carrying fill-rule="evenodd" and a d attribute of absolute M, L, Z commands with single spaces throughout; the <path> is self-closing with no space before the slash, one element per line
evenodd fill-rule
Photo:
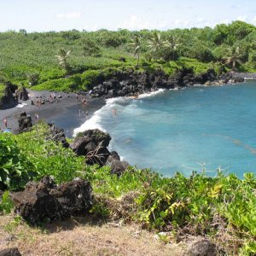
<path fill-rule="evenodd" d="M 19 104 L 22 104 L 23 108 L 18 108 L 20 106 L 18 105 L 18 107 L 15 106 L 14 108 L 0 110 L 0 127 L 2 130 L 5 129 L 3 119 L 6 118 L 8 128 L 16 133 L 19 128 L 18 119 L 20 118 L 20 113 L 25 111 L 31 115 L 33 124 L 36 123 L 35 115 L 38 114 L 40 120 L 54 122 L 56 126 L 64 129 L 67 137 L 72 137 L 73 129 L 82 125 L 86 119 L 90 119 L 91 115 L 105 104 L 103 99 L 90 99 L 88 96 L 87 103 L 83 104 L 82 99 L 84 96 L 79 96 L 77 99 L 74 93 L 57 92 L 55 96 L 61 96 L 58 102 L 45 103 L 37 106 L 37 97 L 49 98 L 52 92 L 34 90 L 28 90 L 28 92 L 31 95 L 28 101 L 19 100 Z M 32 101 L 35 105 L 32 105 Z M 86 112 L 88 113 L 87 116 Z"/>

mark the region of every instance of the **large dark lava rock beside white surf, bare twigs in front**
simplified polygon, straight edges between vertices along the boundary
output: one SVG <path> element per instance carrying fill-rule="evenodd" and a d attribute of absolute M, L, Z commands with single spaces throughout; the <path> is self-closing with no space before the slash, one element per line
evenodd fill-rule
<path fill-rule="evenodd" d="M 70 148 L 76 154 L 86 156 L 87 164 L 104 166 L 110 155 L 107 148 L 110 140 L 111 137 L 106 132 L 98 129 L 87 130 L 74 139 Z"/>

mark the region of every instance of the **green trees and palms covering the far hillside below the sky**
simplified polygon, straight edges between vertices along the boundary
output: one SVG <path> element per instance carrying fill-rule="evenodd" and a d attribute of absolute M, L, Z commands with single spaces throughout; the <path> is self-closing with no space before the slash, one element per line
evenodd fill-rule
<path fill-rule="evenodd" d="M 167 74 L 182 67 L 195 73 L 208 68 L 255 72 L 255 39 L 255 26 L 242 21 L 164 32 L 1 32 L 0 80 L 35 90 L 70 91 L 88 90 L 94 75 L 112 68 Z M 82 81 L 84 72 L 90 72 L 88 83 Z"/>

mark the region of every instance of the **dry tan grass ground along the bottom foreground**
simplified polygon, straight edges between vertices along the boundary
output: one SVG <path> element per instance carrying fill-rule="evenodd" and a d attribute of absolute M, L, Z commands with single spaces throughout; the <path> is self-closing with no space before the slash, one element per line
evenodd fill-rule
<path fill-rule="evenodd" d="M 157 237 L 136 224 L 73 218 L 35 228 L 12 215 L 0 216 L 0 251 L 18 247 L 21 255 L 183 255 L 184 244 Z"/>

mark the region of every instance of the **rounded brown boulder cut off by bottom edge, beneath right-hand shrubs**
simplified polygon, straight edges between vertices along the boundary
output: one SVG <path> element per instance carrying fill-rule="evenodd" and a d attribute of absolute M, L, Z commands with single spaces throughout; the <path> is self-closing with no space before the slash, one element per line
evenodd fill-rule
<path fill-rule="evenodd" d="M 217 255 L 216 245 L 207 239 L 201 239 L 192 243 L 184 256 L 215 256 Z"/>

